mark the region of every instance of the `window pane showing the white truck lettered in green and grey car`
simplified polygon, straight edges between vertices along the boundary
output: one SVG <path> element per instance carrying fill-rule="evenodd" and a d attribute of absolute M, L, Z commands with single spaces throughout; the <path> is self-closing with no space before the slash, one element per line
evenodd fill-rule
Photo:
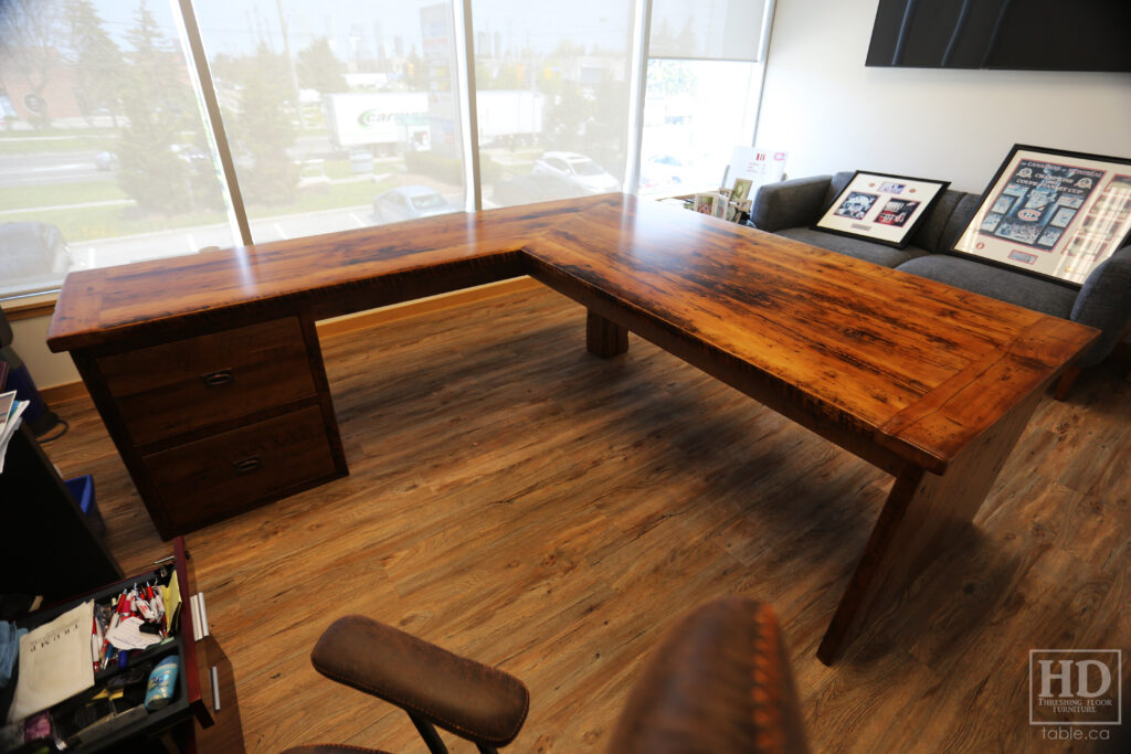
<path fill-rule="evenodd" d="M 193 6 L 256 242 L 464 209 L 450 2 Z"/>

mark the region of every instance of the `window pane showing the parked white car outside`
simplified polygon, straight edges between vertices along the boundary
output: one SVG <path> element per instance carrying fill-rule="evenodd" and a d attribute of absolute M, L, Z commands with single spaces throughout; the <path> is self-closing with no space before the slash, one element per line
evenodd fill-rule
<path fill-rule="evenodd" d="M 484 206 L 620 191 L 631 0 L 473 0 Z"/>

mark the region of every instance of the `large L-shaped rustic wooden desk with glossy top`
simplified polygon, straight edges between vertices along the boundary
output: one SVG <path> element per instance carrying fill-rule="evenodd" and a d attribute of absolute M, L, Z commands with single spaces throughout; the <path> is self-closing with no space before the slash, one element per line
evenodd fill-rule
<path fill-rule="evenodd" d="M 831 662 L 970 521 L 1067 320 L 623 194 L 68 276 L 51 323 L 165 538 L 347 474 L 319 319 L 529 275 L 896 477 L 821 642 Z"/>

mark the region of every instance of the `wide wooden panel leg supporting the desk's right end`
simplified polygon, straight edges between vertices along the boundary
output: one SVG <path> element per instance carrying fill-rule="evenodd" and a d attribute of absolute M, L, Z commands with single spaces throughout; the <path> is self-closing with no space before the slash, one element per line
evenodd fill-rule
<path fill-rule="evenodd" d="M 817 658 L 832 665 L 845 647 L 891 606 L 969 523 L 1005 465 L 1044 391 L 1015 406 L 947 468 L 908 466 L 897 477 L 864 554 L 821 639 Z"/>

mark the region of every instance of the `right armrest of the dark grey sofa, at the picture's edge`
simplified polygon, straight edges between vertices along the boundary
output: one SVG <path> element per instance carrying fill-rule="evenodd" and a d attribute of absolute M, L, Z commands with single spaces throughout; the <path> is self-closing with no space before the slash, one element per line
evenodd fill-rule
<path fill-rule="evenodd" d="M 1072 305 L 1072 321 L 1100 330 L 1077 366 L 1104 361 L 1131 322 L 1131 246 L 1117 250 L 1091 271 Z"/>

